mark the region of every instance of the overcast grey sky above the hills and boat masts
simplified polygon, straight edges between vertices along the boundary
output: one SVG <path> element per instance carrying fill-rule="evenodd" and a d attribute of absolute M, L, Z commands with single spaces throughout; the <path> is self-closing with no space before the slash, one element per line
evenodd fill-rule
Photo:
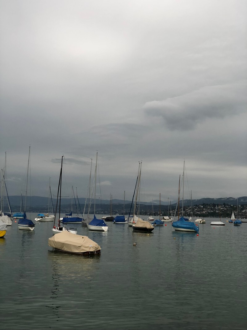
<path fill-rule="evenodd" d="M 246 0 L 0 0 L 9 195 L 247 196 Z M 97 182 L 98 184 L 98 182 Z M 186 194 L 185 194 L 186 192 Z"/>

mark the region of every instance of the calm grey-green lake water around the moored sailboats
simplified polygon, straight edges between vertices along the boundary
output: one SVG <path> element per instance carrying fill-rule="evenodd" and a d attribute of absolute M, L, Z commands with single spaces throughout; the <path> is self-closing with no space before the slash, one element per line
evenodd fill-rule
<path fill-rule="evenodd" d="M 171 223 L 151 234 L 71 225 L 101 246 L 91 258 L 53 251 L 53 222 L 22 231 L 13 221 L 0 239 L 0 329 L 245 330 L 247 223 L 211 221 L 199 236 Z"/>

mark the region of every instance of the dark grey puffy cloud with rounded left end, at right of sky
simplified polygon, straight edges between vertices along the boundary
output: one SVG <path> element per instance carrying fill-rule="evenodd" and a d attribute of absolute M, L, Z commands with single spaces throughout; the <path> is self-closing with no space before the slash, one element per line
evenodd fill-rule
<path fill-rule="evenodd" d="M 147 114 L 161 117 L 168 130 L 194 130 L 208 118 L 237 116 L 246 111 L 247 81 L 205 86 L 185 95 L 144 105 Z"/>

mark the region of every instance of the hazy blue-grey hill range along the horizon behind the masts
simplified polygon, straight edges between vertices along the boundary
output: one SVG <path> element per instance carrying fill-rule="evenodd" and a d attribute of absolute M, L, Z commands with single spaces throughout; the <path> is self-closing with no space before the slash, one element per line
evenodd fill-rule
<path fill-rule="evenodd" d="M 21 196 L 9 196 L 10 199 L 10 205 L 11 208 L 13 209 L 20 209 L 20 202 L 21 202 Z M 84 207 L 85 204 L 85 198 L 78 198 L 79 200 L 79 204 L 80 206 Z M 54 207 L 56 206 L 56 200 L 53 201 Z M 75 201 L 72 200 L 73 204 L 75 204 Z M 77 202 L 77 199 L 76 199 Z M 237 205 L 237 198 L 233 198 L 233 197 L 222 197 L 222 198 L 200 198 L 200 199 L 193 199 L 192 201 L 189 199 L 184 199 L 183 200 L 184 204 L 189 206 L 192 204 L 192 206 L 194 205 L 201 205 L 201 204 L 220 204 L 223 205 L 225 204 L 229 204 L 229 205 Z M 24 203 L 24 198 L 23 198 L 23 203 Z M 28 200 L 29 203 L 29 200 Z M 141 205 L 152 205 L 152 203 L 154 205 L 159 205 L 159 200 L 155 200 L 153 202 L 140 202 Z M 181 200 L 180 200 L 181 203 Z M 48 209 L 48 197 L 41 197 L 41 196 L 32 196 L 32 201 L 31 201 L 32 207 L 40 207 L 42 209 Z M 52 208 L 52 202 L 50 199 L 50 209 Z M 97 204 L 110 204 L 109 200 L 101 200 L 100 202 L 97 201 Z M 114 205 L 124 205 L 124 200 L 121 199 L 113 199 L 112 200 L 112 204 Z M 126 201 L 125 200 L 125 205 L 131 204 L 131 201 Z M 161 205 L 168 205 L 168 202 L 160 202 Z M 171 201 L 172 205 L 176 205 L 177 201 Z M 247 204 L 247 197 L 243 196 L 243 197 L 238 197 L 238 204 L 239 205 L 243 205 L 243 204 Z M 7 206 L 7 202 L 4 202 L 4 205 Z M 61 205 L 71 205 L 71 198 L 62 198 L 61 199 Z M 4 209 L 6 210 L 6 206 L 4 207 Z"/>

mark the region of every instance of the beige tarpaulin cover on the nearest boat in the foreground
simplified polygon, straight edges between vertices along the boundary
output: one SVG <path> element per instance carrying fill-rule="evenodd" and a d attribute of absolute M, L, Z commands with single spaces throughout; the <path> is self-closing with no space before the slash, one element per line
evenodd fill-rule
<path fill-rule="evenodd" d="M 63 230 L 49 238 L 48 245 L 52 248 L 76 253 L 100 250 L 100 246 L 88 236 L 72 234 L 68 230 Z"/>

